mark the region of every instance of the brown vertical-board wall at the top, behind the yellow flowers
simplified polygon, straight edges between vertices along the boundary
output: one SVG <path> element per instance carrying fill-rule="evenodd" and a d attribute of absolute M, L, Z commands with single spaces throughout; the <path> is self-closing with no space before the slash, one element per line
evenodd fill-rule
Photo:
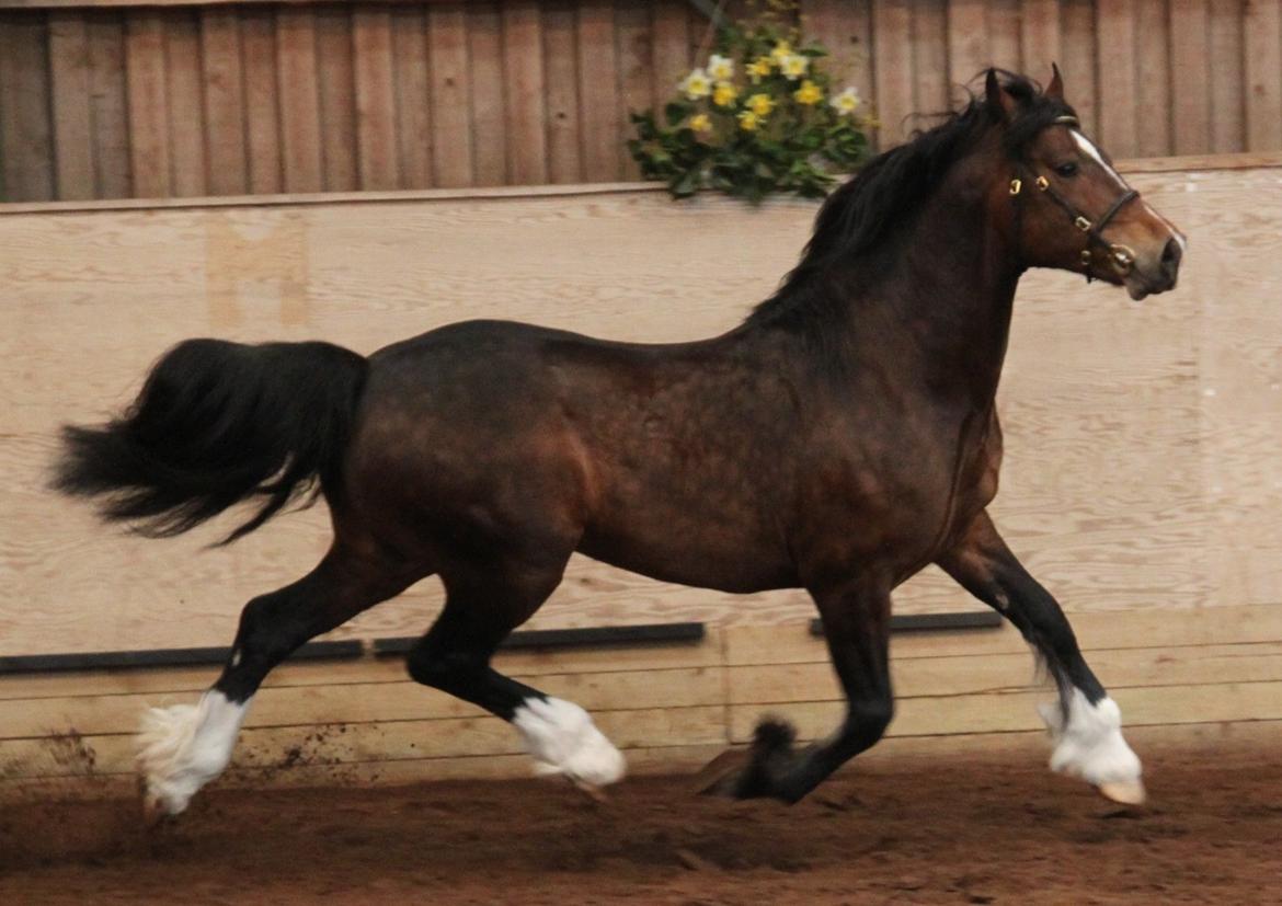
<path fill-rule="evenodd" d="M 18 9 L 21 8 L 21 9 Z M 1282 150 L 1282 0 L 803 0 L 882 144 L 979 69 L 1114 156 Z M 686 0 L 0 0 L 0 199 L 609 182 L 706 37 Z"/>

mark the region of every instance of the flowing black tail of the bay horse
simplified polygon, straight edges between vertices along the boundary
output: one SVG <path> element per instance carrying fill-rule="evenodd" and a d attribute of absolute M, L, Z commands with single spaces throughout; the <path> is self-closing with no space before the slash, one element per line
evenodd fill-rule
<path fill-rule="evenodd" d="M 54 487 L 103 496 L 104 519 L 179 534 L 250 497 L 265 498 L 231 543 L 292 498 L 337 487 L 365 359 L 329 343 L 245 346 L 187 340 L 105 425 L 63 429 Z"/>

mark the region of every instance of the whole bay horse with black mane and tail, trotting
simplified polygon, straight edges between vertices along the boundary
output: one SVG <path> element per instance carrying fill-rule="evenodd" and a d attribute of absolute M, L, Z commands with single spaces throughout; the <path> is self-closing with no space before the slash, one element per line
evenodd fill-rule
<path fill-rule="evenodd" d="M 641 345 L 468 322 L 369 358 L 179 343 L 121 416 L 64 429 L 56 487 L 150 536 L 256 501 L 227 542 L 323 495 L 333 542 L 245 606 L 199 704 L 149 714 L 147 801 L 182 811 L 226 768 L 273 666 L 429 575 L 446 602 L 409 675 L 510 721 L 544 770 L 618 780 L 623 757 L 583 709 L 491 666 L 576 551 L 667 582 L 813 596 L 845 719 L 801 750 L 762 724 L 717 792 L 795 802 L 881 738 L 891 592 L 935 563 L 1045 661 L 1051 766 L 1142 801 L 1118 706 L 986 506 L 1020 274 L 1072 270 L 1138 300 L 1174 287 L 1183 250 L 1082 133 L 1058 69 L 1045 91 L 988 70 L 981 96 L 837 188 L 797 267 L 723 336 Z"/>

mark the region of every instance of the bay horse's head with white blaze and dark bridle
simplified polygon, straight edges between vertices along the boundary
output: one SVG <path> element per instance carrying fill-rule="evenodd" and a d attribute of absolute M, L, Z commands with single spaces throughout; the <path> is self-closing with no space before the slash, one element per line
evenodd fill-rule
<path fill-rule="evenodd" d="M 1006 172 L 992 205 L 1010 209 L 1024 263 L 1126 286 L 1132 299 L 1176 286 L 1183 235 L 1140 197 L 1082 132 L 1059 68 L 1045 94 L 990 69 L 986 106 L 1004 129 Z M 1015 88 L 1015 90 L 1013 90 Z"/>

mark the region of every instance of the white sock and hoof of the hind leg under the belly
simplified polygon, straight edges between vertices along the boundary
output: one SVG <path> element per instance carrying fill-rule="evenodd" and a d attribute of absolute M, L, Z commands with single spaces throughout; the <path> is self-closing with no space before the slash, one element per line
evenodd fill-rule
<path fill-rule="evenodd" d="M 512 723 L 540 774 L 564 774 L 577 786 L 604 787 L 623 778 L 623 755 L 578 705 L 562 698 L 526 698 Z"/>

